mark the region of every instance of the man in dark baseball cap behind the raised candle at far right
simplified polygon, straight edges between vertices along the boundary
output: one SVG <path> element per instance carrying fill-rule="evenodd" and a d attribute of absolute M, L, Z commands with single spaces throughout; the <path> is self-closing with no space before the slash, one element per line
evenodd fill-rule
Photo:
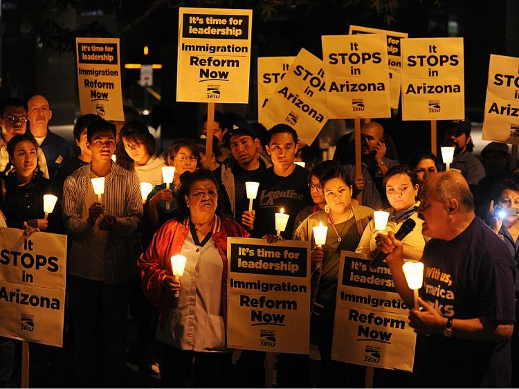
<path fill-rule="evenodd" d="M 446 145 L 455 147 L 450 168 L 459 170 L 471 189 L 485 177 L 485 170 L 477 156 L 472 154 L 474 143 L 471 138 L 471 120 L 450 120 L 446 123 Z"/>

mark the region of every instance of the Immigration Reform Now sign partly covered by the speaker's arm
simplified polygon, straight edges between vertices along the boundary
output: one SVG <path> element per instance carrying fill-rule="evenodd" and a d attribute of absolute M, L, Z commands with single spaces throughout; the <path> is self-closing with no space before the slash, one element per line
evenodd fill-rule
<path fill-rule="evenodd" d="M 370 271 L 365 255 L 340 255 L 331 359 L 412 372 L 416 334 L 408 307 L 382 264 Z"/>

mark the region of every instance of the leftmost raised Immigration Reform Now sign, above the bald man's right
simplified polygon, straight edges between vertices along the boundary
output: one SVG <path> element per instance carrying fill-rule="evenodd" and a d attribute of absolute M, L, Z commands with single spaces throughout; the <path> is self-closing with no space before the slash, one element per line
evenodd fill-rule
<path fill-rule="evenodd" d="M 81 114 L 125 120 L 118 38 L 76 38 Z"/>

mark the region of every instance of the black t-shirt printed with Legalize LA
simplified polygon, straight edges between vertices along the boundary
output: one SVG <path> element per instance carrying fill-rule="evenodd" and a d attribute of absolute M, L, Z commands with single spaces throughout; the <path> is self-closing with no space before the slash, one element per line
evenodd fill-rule
<path fill-rule="evenodd" d="M 308 188 L 308 170 L 295 165 L 289 176 L 280 177 L 273 168 L 268 168 L 257 176 L 260 188 L 254 202 L 256 211 L 253 237 L 275 234 L 275 213 L 284 209 L 290 215 L 288 224 L 281 234 L 284 239 L 292 239 L 293 224 L 298 212 L 312 203 Z"/>

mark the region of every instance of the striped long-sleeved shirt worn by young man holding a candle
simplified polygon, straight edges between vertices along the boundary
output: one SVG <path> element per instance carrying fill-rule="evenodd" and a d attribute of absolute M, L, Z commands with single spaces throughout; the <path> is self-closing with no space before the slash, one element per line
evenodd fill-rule
<path fill-rule="evenodd" d="M 92 226 L 86 221 L 87 217 L 83 216 L 83 210 L 86 192 L 91 185 L 90 163 L 73 172 L 64 183 L 63 219 L 72 245 L 78 242 L 82 246 L 89 246 L 84 244 L 83 239 L 90 236 Z M 143 215 L 137 175 L 112 163 L 111 171 L 105 177 L 102 203 L 104 213 L 116 217 L 116 226 L 108 231 L 104 249 L 104 283 L 118 284 L 136 273 L 136 255 L 131 236 Z M 86 278 L 77 269 L 75 275 Z"/>

